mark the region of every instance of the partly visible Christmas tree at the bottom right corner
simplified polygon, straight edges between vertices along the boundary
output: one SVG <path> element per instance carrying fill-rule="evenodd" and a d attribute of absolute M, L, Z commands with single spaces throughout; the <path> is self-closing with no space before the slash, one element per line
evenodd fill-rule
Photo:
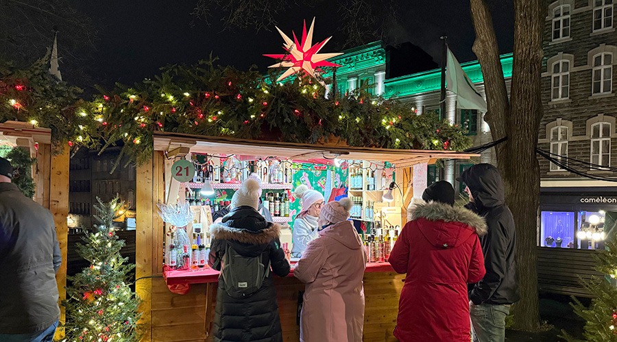
<path fill-rule="evenodd" d="M 596 270 L 606 274 L 605 278 L 592 280 L 581 279 L 585 288 L 596 295 L 589 308 L 574 299 L 574 313 L 585 319 L 583 341 L 590 342 L 617 342 L 617 227 L 614 225 L 605 241 L 605 250 L 596 256 Z M 564 339 L 568 342 L 581 341 L 572 338 L 564 330 Z"/>

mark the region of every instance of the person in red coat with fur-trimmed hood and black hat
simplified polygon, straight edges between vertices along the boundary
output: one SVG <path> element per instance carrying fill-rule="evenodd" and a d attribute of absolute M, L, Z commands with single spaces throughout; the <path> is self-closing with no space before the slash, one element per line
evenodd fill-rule
<path fill-rule="evenodd" d="M 426 188 L 411 207 L 389 263 L 407 273 L 400 293 L 394 336 L 400 342 L 469 342 L 467 284 L 485 274 L 478 235 L 484 219 L 453 207 L 452 185 L 439 181 Z"/>

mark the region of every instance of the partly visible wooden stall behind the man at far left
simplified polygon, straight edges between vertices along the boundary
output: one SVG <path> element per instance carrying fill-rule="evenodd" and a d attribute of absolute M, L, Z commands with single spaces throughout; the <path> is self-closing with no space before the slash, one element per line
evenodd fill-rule
<path fill-rule="evenodd" d="M 62 302 L 66 298 L 66 241 L 69 228 L 66 217 L 69 215 L 69 146 L 59 154 L 52 153 L 51 129 L 34 127 L 27 122 L 6 121 L 0 124 L 0 142 L 10 146 L 19 146 L 29 150 L 31 157 L 36 158 L 32 170 L 32 178 L 36 183 L 34 200 L 49 209 L 56 222 L 56 234 L 62 252 L 62 265 L 56 274 L 58 292 Z M 64 307 L 60 306 L 64 321 Z M 62 336 L 58 328 L 56 337 Z"/>

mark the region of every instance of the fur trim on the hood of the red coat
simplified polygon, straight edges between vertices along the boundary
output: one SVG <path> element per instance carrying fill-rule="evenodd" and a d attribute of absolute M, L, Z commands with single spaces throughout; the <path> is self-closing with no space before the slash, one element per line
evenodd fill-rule
<path fill-rule="evenodd" d="M 428 221 L 461 222 L 474 228 L 478 235 L 488 231 L 484 218 L 463 207 L 451 207 L 440 202 L 418 203 L 407 209 L 409 220 L 425 218 Z"/>

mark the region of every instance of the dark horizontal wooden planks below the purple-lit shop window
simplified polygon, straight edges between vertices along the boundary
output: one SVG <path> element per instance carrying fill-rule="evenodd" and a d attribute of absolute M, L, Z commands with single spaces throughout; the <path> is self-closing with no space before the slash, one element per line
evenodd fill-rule
<path fill-rule="evenodd" d="M 595 250 L 572 248 L 537 248 L 537 287 L 539 291 L 579 297 L 592 297 L 579 283 L 579 276 L 589 280 L 603 276 L 594 267 Z"/>

